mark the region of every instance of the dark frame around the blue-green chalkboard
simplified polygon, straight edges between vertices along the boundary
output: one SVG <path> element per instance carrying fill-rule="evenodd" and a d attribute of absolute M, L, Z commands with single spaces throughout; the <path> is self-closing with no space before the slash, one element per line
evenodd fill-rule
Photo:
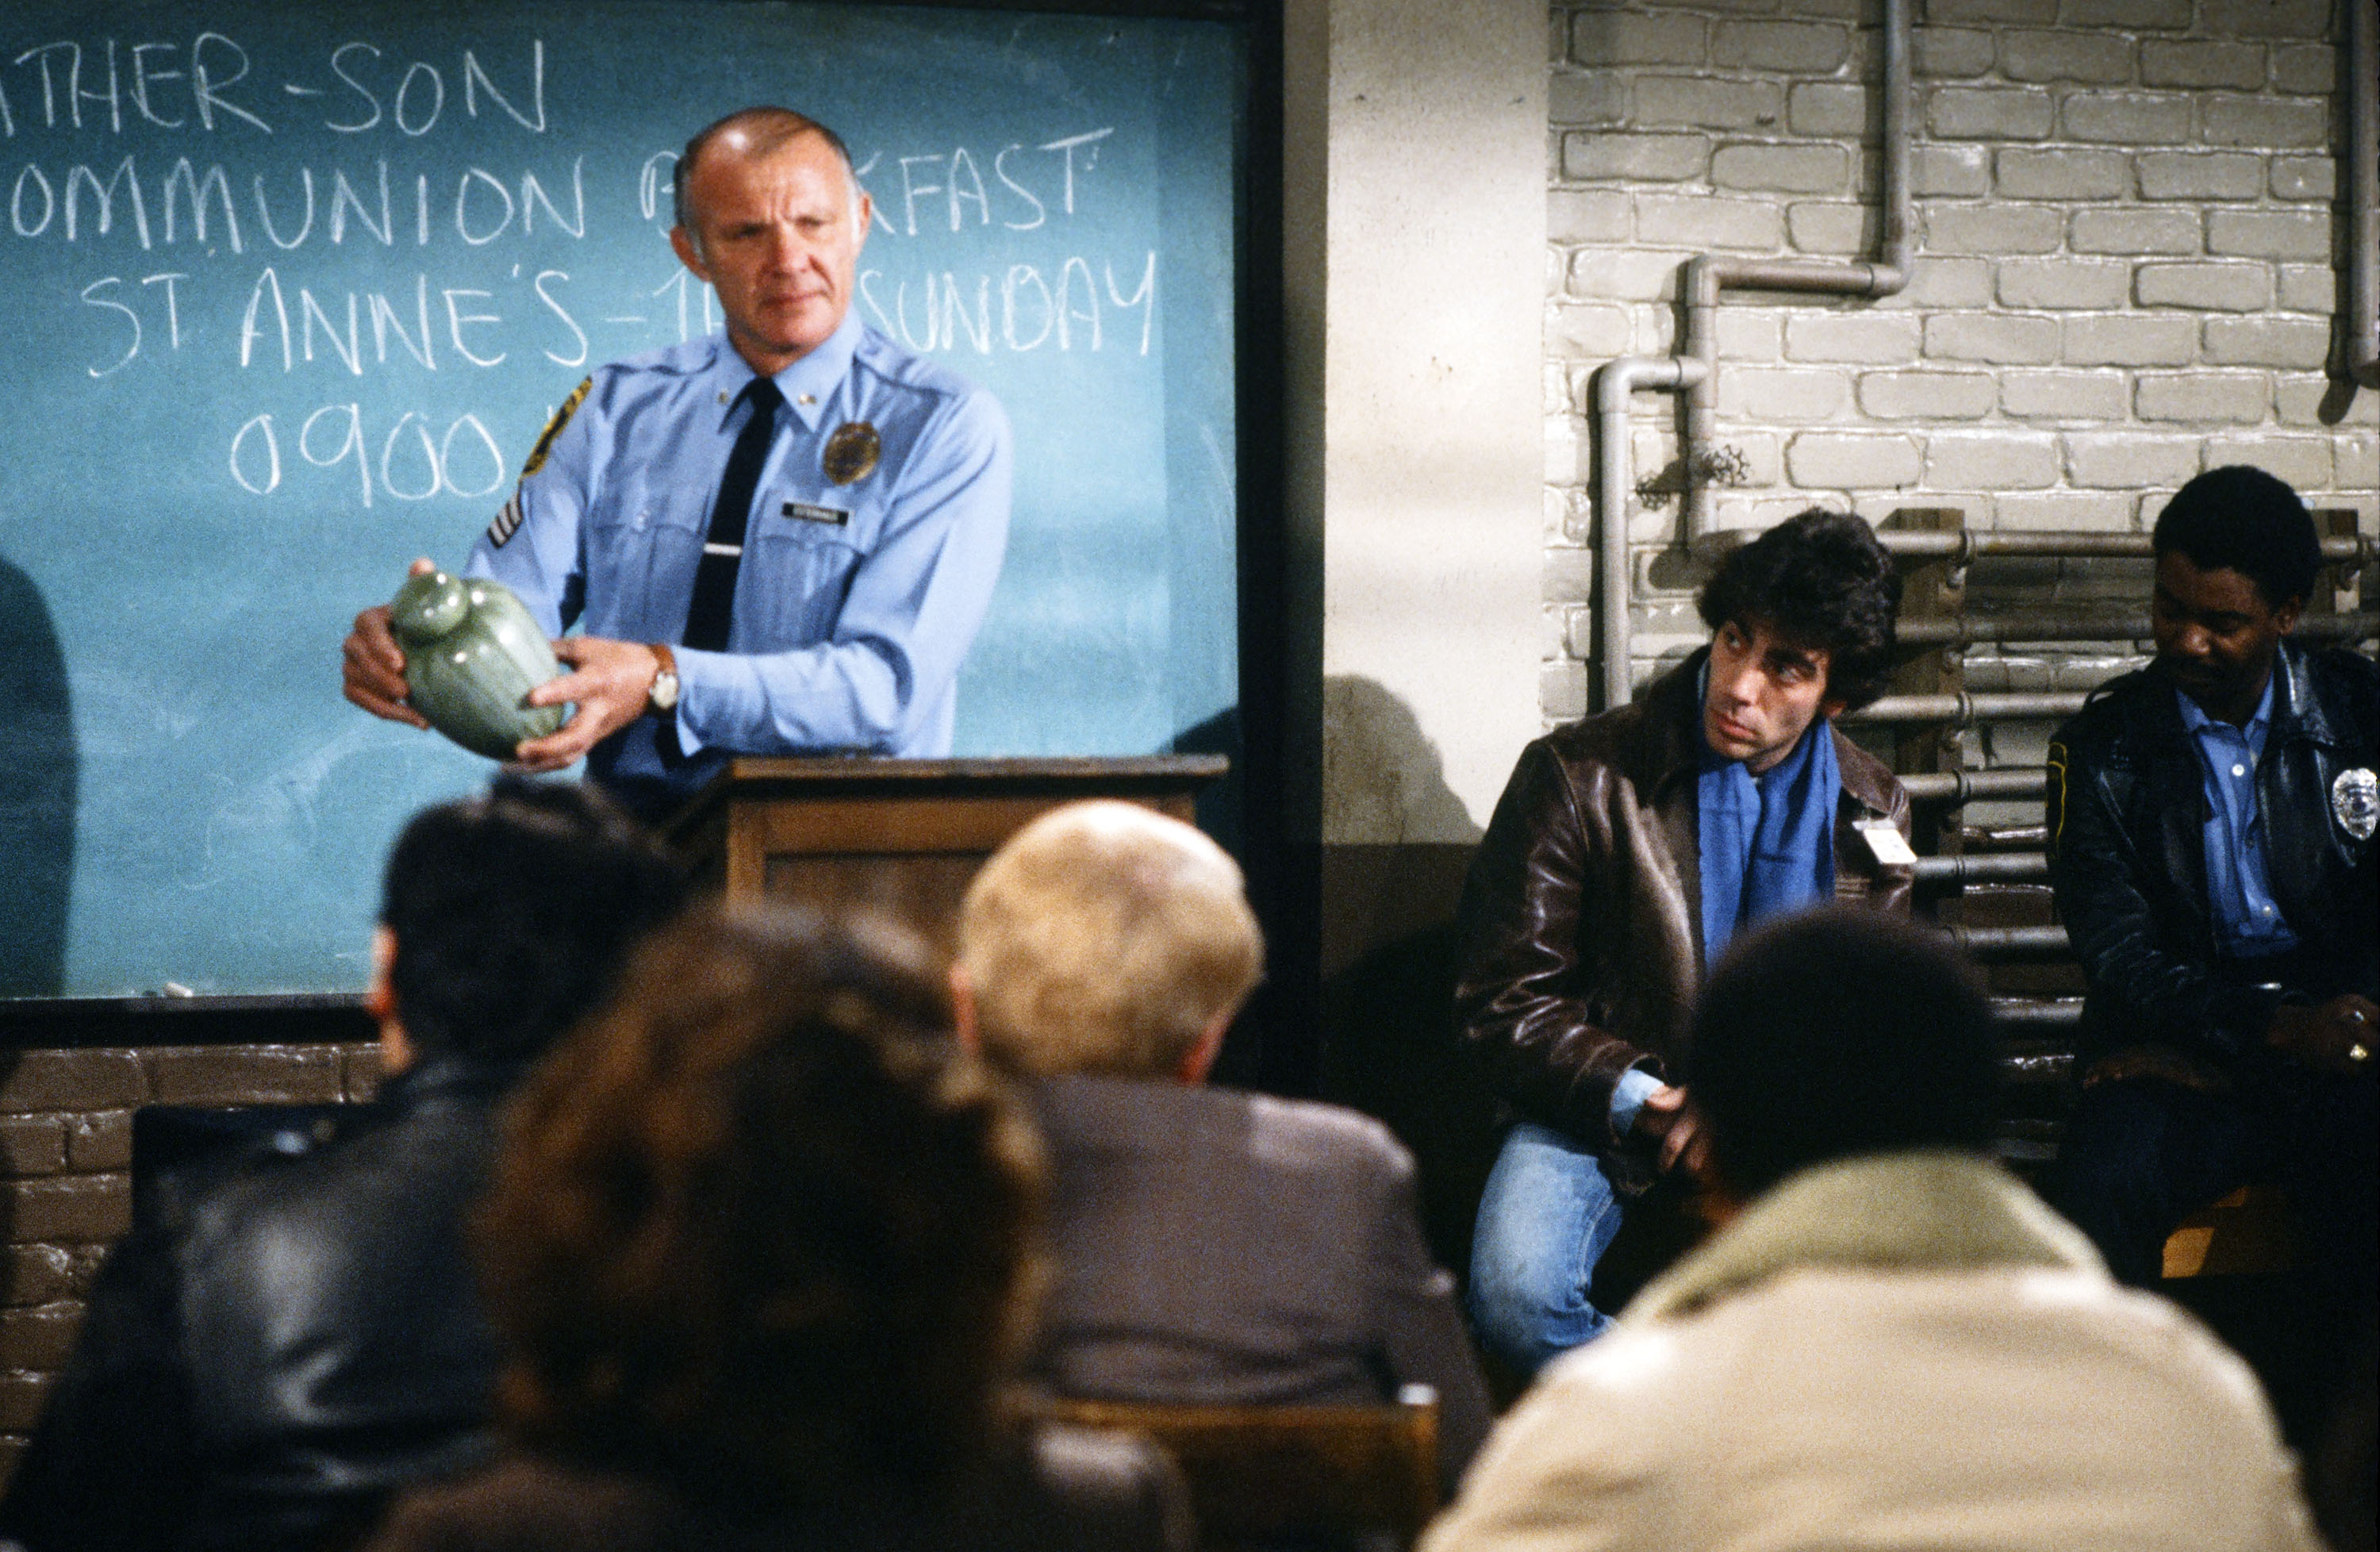
<path fill-rule="evenodd" d="M 1304 1093 L 1314 1069 L 1311 988 L 1304 983 L 1319 933 L 1314 869 L 1283 866 L 1292 833 L 1283 795 L 1292 786 L 1290 664 L 1295 624 L 1288 567 L 1283 436 L 1285 393 L 1278 350 L 1280 281 L 1280 0 L 869 0 L 888 10 L 1047 12 L 1121 19 L 1216 21 L 1240 31 L 1245 71 L 1245 164 L 1235 224 L 1235 393 L 1238 426 L 1238 726 L 1221 752 L 1233 771 L 1200 802 L 1200 824 L 1247 866 L 1250 897 L 1271 945 L 1271 981 L 1242 1014 L 1219 1076 Z M 1259 412 L 1250 414 L 1257 407 Z M 376 1038 L 359 993 L 198 997 L 0 997 L 0 1052 L 117 1050 L 159 1045 L 343 1045 Z"/>

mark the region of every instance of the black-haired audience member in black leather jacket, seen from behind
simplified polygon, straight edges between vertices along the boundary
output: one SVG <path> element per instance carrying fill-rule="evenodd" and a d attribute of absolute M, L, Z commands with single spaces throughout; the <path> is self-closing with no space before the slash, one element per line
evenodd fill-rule
<path fill-rule="evenodd" d="M 350 1545 L 478 1459 L 497 1350 L 462 1243 L 495 1104 L 681 900 L 578 786 L 500 781 L 388 859 L 369 1007 L 388 1081 L 136 1226 L 0 1507 L 31 1552 Z M 286 1145 L 286 1138 L 278 1140 Z"/>

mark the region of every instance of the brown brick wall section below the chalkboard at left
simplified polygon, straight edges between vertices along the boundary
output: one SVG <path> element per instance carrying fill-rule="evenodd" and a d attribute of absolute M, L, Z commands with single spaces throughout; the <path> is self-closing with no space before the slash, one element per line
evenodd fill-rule
<path fill-rule="evenodd" d="M 0 1483 L 74 1345 L 83 1293 L 131 1228 L 143 1104 L 369 1100 L 376 1045 L 207 1045 L 0 1055 Z"/>

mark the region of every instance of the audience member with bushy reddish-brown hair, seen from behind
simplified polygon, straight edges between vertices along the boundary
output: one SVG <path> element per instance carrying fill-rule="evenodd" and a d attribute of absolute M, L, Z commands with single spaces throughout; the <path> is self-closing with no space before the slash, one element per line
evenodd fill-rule
<path fill-rule="evenodd" d="M 374 1552 L 1185 1547 L 1150 1445 L 1002 1421 L 1040 1185 L 907 938 L 690 916 L 507 1119 L 476 1247 L 514 1452 Z"/>

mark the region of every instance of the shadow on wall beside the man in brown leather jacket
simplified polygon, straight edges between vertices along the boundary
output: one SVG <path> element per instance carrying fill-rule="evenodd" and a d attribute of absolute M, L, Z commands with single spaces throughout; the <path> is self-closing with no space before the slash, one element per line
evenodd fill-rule
<path fill-rule="evenodd" d="M 1385 686 L 1328 678 L 1323 716 L 1328 831 L 1385 840 L 1323 847 L 1319 1090 L 1414 1150 L 1430 1250 L 1461 1273 L 1497 1145 L 1495 1102 L 1454 1038 L 1454 914 L 1480 828 Z"/>

